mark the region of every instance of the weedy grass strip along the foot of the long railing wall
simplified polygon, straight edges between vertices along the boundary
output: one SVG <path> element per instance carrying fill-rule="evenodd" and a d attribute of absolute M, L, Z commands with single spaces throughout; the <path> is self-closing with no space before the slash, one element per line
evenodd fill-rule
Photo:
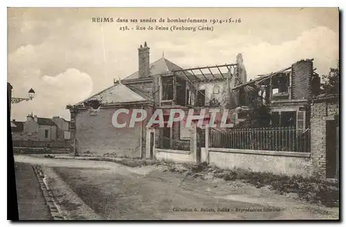
<path fill-rule="evenodd" d="M 225 181 L 241 180 L 252 184 L 256 188 L 270 186 L 281 195 L 284 193 L 297 193 L 300 199 L 327 207 L 339 206 L 339 183 L 324 181 L 315 177 L 302 177 L 300 175 L 287 176 L 275 175 L 271 172 L 253 172 L 241 168 L 223 170 L 216 166 L 208 166 L 206 163 L 186 165 L 188 175 L 201 177 L 212 172 L 215 178 Z M 170 169 L 173 170 L 174 169 Z"/>

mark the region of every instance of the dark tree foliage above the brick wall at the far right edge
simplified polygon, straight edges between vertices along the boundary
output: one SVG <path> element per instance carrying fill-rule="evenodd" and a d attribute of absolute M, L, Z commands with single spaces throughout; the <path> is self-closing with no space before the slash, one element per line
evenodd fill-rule
<path fill-rule="evenodd" d="M 328 75 L 323 75 L 322 79 L 325 81 L 322 84 L 322 93 L 323 94 L 339 94 L 340 86 L 340 61 L 336 68 L 330 68 Z"/>

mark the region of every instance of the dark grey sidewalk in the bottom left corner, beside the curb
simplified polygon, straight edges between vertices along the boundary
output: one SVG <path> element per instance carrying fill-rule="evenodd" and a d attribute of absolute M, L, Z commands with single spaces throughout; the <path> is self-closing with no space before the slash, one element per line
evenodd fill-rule
<path fill-rule="evenodd" d="M 33 166 L 15 164 L 19 220 L 51 220 Z"/>

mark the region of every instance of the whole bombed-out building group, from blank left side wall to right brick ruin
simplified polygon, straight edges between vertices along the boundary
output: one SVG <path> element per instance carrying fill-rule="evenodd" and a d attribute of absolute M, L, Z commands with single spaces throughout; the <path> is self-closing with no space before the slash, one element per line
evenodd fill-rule
<path fill-rule="evenodd" d="M 320 87 L 320 77 L 314 70 L 313 59 L 306 59 L 247 81 L 241 54 L 234 63 L 181 68 L 165 57 L 150 63 L 149 47 L 144 43 L 138 48 L 137 72 L 114 81 L 111 87 L 80 103 L 67 106 L 71 112 L 74 150 L 78 155 L 142 158 L 159 157 L 164 150 L 172 150 L 187 155 L 183 161 L 196 161 L 192 150 L 197 137 L 191 128 L 186 128 L 184 121 L 166 127 L 169 110 L 176 108 L 186 114 L 193 108 L 195 115 L 201 109 L 206 112 L 228 109 L 226 123 L 235 126 L 245 121 L 251 106 L 257 102 L 270 109 L 271 127 L 304 130 L 309 128 L 311 97 L 318 94 Z M 129 121 L 134 109 L 146 110 L 147 118 L 132 128 L 115 128 L 111 118 L 120 108 L 129 110 L 127 116 L 120 117 L 122 122 Z M 163 109 L 165 127 L 147 128 L 149 118 L 157 109 Z M 210 115 L 204 118 L 208 122 Z M 201 133 L 199 142 L 203 147 L 206 141 L 203 141 L 204 131 Z"/>

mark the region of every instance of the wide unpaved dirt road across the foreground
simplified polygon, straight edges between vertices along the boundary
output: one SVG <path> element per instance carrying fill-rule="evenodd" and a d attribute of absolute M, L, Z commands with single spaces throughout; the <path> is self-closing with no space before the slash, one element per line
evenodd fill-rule
<path fill-rule="evenodd" d="M 184 178 L 147 166 L 16 155 L 46 166 L 102 219 L 337 219 L 320 208 L 242 182 Z M 49 171 L 48 171 L 49 172 Z"/>

